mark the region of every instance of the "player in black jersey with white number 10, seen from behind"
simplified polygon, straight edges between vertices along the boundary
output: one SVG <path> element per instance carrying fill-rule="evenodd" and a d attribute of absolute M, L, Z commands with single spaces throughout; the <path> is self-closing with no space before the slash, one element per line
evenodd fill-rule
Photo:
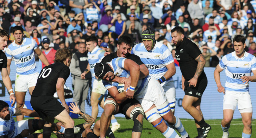
<path fill-rule="evenodd" d="M 43 128 L 44 137 L 51 136 L 51 126 L 54 119 L 61 121 L 66 129 L 65 138 L 74 137 L 74 121 L 69 116 L 69 108 L 64 98 L 64 84 L 70 74 L 69 65 L 72 52 L 68 48 L 58 49 L 54 63 L 44 67 L 31 95 L 31 105 L 40 117 L 47 122 Z M 53 97 L 57 91 L 61 103 Z"/>

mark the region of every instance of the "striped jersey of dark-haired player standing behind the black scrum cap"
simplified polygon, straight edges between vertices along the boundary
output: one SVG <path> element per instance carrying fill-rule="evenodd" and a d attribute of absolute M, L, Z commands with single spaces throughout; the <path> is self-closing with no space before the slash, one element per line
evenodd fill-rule
<path fill-rule="evenodd" d="M 90 72 L 92 79 L 95 79 L 94 66 L 96 63 L 101 62 L 104 57 L 105 51 L 96 46 L 91 52 L 88 52 L 88 62 L 90 64 Z"/>

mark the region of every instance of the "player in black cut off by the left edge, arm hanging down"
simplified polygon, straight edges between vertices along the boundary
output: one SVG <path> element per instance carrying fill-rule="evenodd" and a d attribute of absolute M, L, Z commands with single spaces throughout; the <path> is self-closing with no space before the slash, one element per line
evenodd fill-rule
<path fill-rule="evenodd" d="M 3 82 L 4 82 L 4 86 L 7 88 L 7 91 L 10 94 L 10 103 L 11 103 L 11 100 L 13 101 L 11 106 L 13 106 L 15 104 L 16 99 L 12 89 L 12 82 L 7 71 L 7 58 L 5 53 L 2 51 L 7 46 L 7 41 L 9 37 L 10 35 L 8 34 L 7 31 L 3 29 L 0 30 L 0 60 L 1 60 L 0 71 L 1 71 Z"/>

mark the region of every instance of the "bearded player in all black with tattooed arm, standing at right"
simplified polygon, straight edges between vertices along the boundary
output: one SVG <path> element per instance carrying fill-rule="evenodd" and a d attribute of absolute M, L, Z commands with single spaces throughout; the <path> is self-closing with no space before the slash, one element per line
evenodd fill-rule
<path fill-rule="evenodd" d="M 197 45 L 184 36 L 181 27 L 172 29 L 171 34 L 176 46 L 176 59 L 182 72 L 182 89 L 185 92 L 182 106 L 195 120 L 197 138 L 205 138 L 211 129 L 204 121 L 200 109 L 202 94 L 207 86 L 203 71 L 205 60 Z"/>

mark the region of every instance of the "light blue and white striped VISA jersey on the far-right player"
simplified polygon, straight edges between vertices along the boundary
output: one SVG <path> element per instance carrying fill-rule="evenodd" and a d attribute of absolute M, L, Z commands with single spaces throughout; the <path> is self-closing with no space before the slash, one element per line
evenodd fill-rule
<path fill-rule="evenodd" d="M 242 83 L 242 76 L 251 76 L 251 71 L 256 70 L 256 58 L 244 52 L 242 58 L 236 56 L 235 51 L 222 57 L 220 68 L 225 69 L 227 92 L 249 92 L 249 83 Z"/>

